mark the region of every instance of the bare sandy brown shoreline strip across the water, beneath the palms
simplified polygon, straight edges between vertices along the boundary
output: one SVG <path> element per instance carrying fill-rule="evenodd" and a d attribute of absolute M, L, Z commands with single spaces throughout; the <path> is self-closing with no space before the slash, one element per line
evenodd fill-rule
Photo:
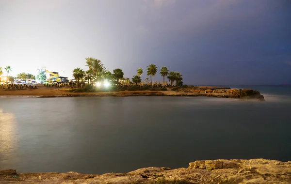
<path fill-rule="evenodd" d="M 211 88 L 211 89 L 210 89 Z M 208 97 L 220 97 L 220 98 L 237 98 L 237 99 L 256 99 L 264 101 L 263 95 L 260 95 L 257 91 L 248 90 L 251 93 L 241 95 L 243 90 L 233 90 L 237 93 L 230 93 L 229 88 L 225 87 L 207 87 L 200 92 L 197 92 L 191 88 L 179 89 L 179 91 L 122 91 L 122 92 L 68 92 L 70 88 L 43 88 L 27 89 L 27 90 L 15 90 L 15 91 L 3 91 L 0 90 L 0 96 L 4 97 L 35 97 L 35 98 L 52 98 L 52 97 L 94 97 L 94 96 L 208 96 Z M 214 90 L 213 90 L 214 89 Z M 220 90 L 219 90 L 220 89 Z M 222 90 L 222 89 L 228 89 Z"/>

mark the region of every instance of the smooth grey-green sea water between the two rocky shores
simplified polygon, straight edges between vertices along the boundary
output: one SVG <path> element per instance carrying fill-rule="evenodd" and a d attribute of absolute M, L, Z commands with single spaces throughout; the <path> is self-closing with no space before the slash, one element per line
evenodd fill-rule
<path fill-rule="evenodd" d="M 291 87 L 212 97 L 0 97 L 0 169 L 102 174 L 219 158 L 291 160 Z"/>

